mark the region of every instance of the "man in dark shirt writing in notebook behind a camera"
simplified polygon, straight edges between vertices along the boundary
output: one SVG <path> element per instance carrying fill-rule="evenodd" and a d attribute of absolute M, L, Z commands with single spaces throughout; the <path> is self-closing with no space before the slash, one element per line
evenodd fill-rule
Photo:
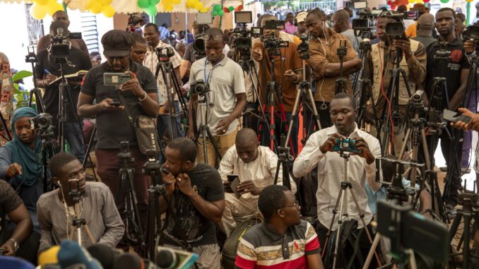
<path fill-rule="evenodd" d="M 63 30 L 63 35 L 66 37 L 67 31 L 66 23 L 61 20 L 54 21 L 50 25 L 50 35 L 56 36 L 59 29 Z M 68 42 L 71 42 L 70 39 L 67 39 Z M 59 84 L 52 83 L 54 80 L 61 76 L 60 64 L 57 64 L 52 56 L 52 51 L 49 49 L 43 49 L 38 52 L 38 64 L 35 66 L 35 77 L 37 79 L 37 85 L 39 87 L 45 88 L 45 94 L 43 95 L 43 101 L 45 103 L 45 112 L 53 116 L 53 124 L 56 127 L 55 131 L 58 132 L 58 118 L 60 115 L 59 111 Z M 69 56 L 66 57 L 66 64 L 63 64 L 63 73 L 73 74 L 81 70 L 90 70 L 92 64 L 90 56 L 84 54 L 75 47 L 69 49 Z M 76 104 L 78 102 L 78 95 L 80 94 L 81 87 L 81 78 L 69 78 L 68 83 L 70 85 L 70 90 L 64 92 L 64 98 L 67 100 L 67 105 L 64 107 L 66 111 L 66 121 L 64 122 L 64 136 L 66 141 L 70 145 L 70 150 L 73 155 L 75 155 L 78 160 L 83 162 L 85 157 L 85 145 L 83 145 L 83 139 L 79 136 L 81 127 L 78 126 L 76 121 Z M 71 101 L 69 99 L 71 96 Z"/>

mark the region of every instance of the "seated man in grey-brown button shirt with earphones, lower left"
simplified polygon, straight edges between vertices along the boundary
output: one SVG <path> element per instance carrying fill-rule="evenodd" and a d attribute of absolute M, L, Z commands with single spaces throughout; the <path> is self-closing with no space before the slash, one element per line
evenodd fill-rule
<path fill-rule="evenodd" d="M 58 245 L 64 239 L 76 240 L 76 228 L 71 226 L 76 218 L 73 198 L 69 195 L 73 188 L 81 193 L 80 217 L 85 219 L 93 236 L 90 241 L 82 232 L 83 246 L 102 243 L 117 246 L 124 234 L 124 224 L 110 189 L 100 182 L 85 181 L 85 170 L 78 159 L 68 153 L 54 155 L 49 163 L 52 181 L 59 189 L 44 193 L 37 203 L 38 222 L 42 227 L 39 253 Z M 76 183 L 75 183 L 76 181 Z M 74 229 L 73 238 L 70 238 Z M 85 231 L 85 227 L 82 227 Z"/>

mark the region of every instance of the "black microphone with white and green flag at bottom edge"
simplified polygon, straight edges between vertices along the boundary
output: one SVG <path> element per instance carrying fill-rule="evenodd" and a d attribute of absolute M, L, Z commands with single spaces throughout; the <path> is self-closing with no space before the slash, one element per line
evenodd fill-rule
<path fill-rule="evenodd" d="M 165 248 L 158 246 L 158 254 L 155 257 L 155 263 L 161 269 L 187 269 L 194 265 L 198 260 L 198 254 L 178 249 Z"/>

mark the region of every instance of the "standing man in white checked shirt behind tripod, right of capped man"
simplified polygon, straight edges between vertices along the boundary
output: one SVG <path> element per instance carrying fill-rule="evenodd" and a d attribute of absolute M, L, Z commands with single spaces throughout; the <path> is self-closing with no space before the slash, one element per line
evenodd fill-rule
<path fill-rule="evenodd" d="M 169 44 L 165 44 L 160 40 L 160 32 L 158 31 L 158 26 L 154 23 L 148 23 L 143 28 L 143 37 L 145 37 L 146 44 L 148 44 L 148 50 L 146 52 L 145 60 L 143 61 L 143 66 L 150 69 L 150 71 L 156 75 L 158 68 L 158 51 L 161 51 L 165 54 L 168 50 L 171 50 L 174 55 L 170 57 L 170 68 L 174 70 L 175 76 L 178 83 L 181 83 L 179 76 L 179 66 L 182 64 L 182 57 L 179 56 L 175 48 L 171 47 Z M 160 136 L 165 134 L 165 131 L 168 131 L 170 138 L 172 138 L 172 125 L 170 121 L 170 112 L 179 113 L 179 102 L 178 96 L 176 94 L 173 82 L 170 81 L 171 88 L 166 88 L 165 80 L 161 71 L 158 72 L 158 77 L 156 78 L 158 86 L 158 96 L 160 97 L 159 102 L 160 106 L 163 108 L 160 111 L 160 116 L 158 122 L 158 131 Z M 181 86 L 181 85 L 179 85 Z M 170 107 L 170 103 L 173 104 L 173 107 Z M 179 119 L 179 116 L 176 118 L 176 127 L 177 127 L 177 136 L 183 136 L 182 123 Z"/>

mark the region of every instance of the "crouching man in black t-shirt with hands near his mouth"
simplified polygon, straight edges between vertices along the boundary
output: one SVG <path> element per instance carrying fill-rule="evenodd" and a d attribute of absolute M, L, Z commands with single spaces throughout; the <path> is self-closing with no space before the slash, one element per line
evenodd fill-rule
<path fill-rule="evenodd" d="M 216 169 L 196 162 L 196 151 L 188 138 L 177 138 L 165 149 L 164 168 L 169 173 L 162 179 L 170 201 L 167 208 L 160 198 L 160 214 L 167 213 L 165 244 L 184 249 L 191 246 L 189 251 L 199 253 L 199 268 L 219 269 L 220 249 L 213 222 L 219 222 L 225 210 L 223 181 Z"/>

